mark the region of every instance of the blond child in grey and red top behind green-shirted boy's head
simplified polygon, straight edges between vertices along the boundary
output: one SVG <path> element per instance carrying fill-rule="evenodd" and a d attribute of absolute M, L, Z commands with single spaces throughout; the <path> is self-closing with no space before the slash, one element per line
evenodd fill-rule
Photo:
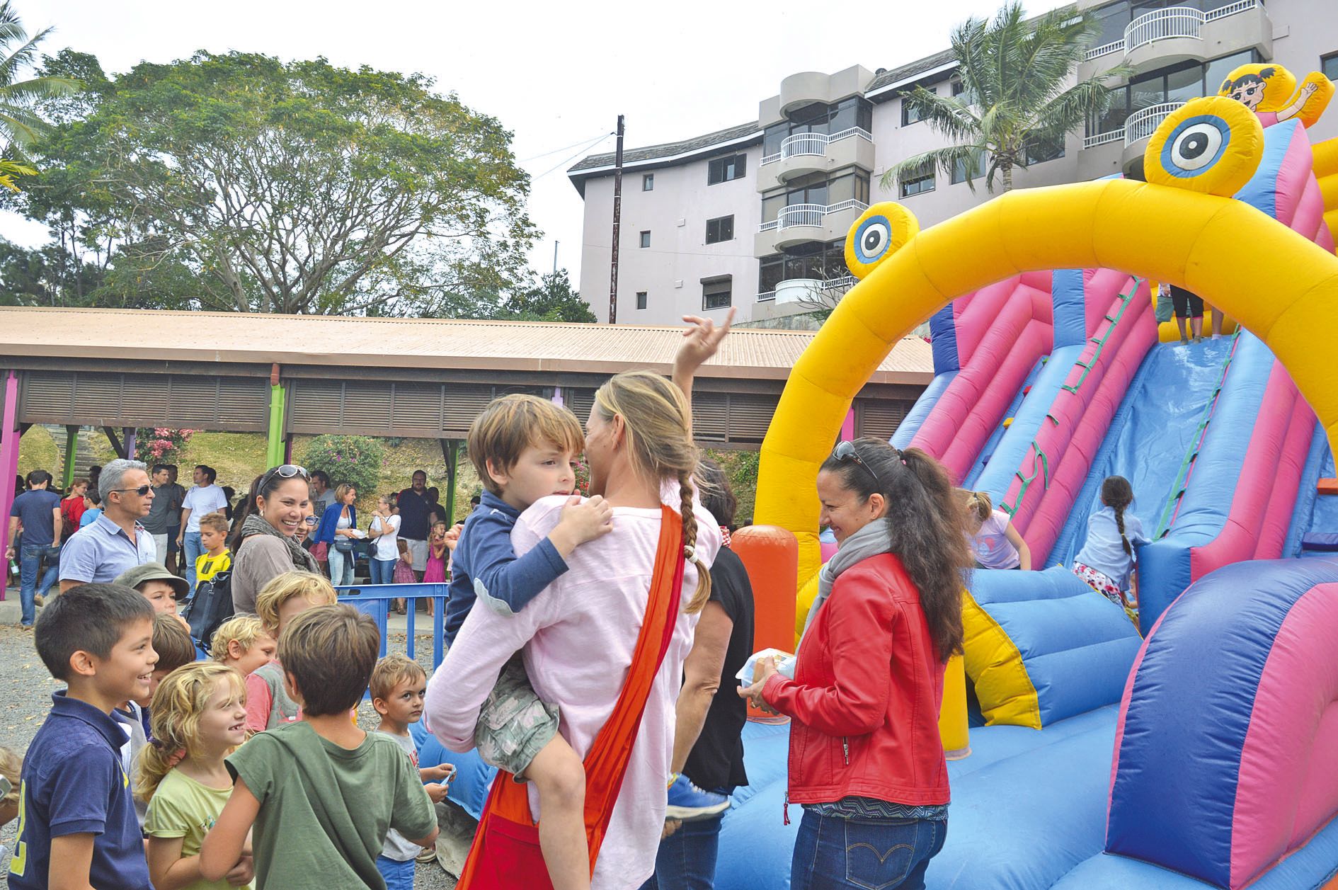
<path fill-rule="evenodd" d="M 256 596 L 256 614 L 265 632 L 280 640 L 284 629 L 308 609 L 332 606 L 334 588 L 324 575 L 312 571 L 285 571 L 261 588 Z M 250 733 L 294 723 L 301 707 L 284 688 L 281 657 L 268 661 L 246 676 L 246 731 Z"/>

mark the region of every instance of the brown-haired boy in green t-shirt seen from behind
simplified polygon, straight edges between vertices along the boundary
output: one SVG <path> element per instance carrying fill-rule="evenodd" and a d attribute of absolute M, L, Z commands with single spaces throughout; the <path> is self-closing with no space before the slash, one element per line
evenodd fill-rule
<path fill-rule="evenodd" d="M 257 890 L 384 890 L 376 857 L 391 828 L 436 842 L 436 811 L 404 751 L 348 719 L 379 649 L 376 622 L 353 606 L 308 609 L 288 626 L 278 660 L 302 719 L 227 758 L 233 794 L 201 847 L 203 879 L 226 875 L 252 826 Z"/>

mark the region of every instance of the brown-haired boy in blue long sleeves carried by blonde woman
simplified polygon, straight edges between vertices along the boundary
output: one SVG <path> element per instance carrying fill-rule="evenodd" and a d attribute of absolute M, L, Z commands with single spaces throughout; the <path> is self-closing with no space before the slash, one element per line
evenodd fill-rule
<path fill-rule="evenodd" d="M 567 570 L 566 557 L 613 530 L 603 498 L 571 498 L 553 533 L 519 559 L 511 546 L 515 521 L 539 498 L 570 495 L 575 459 L 585 447 L 581 423 L 546 399 L 494 399 L 470 426 L 468 450 L 486 491 L 455 547 L 446 604 L 450 645 L 476 600 L 515 614 Z M 516 654 L 507 662 L 479 715 L 479 756 L 534 782 L 539 794 L 539 847 L 554 890 L 589 890 L 590 847 L 585 831 L 585 766 L 558 735 L 558 709 L 539 701 Z"/>

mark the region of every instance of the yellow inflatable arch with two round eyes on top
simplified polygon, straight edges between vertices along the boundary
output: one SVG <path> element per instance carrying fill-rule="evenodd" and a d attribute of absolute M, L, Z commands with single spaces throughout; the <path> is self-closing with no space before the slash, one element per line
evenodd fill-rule
<path fill-rule="evenodd" d="M 1203 294 L 1272 349 L 1338 454 L 1338 256 L 1228 197 L 1262 147 L 1254 114 L 1210 96 L 1161 123 L 1148 182 L 1009 191 L 923 232 L 899 205 L 870 207 L 847 242 L 864 277 L 795 364 L 761 447 L 755 518 L 799 538 L 800 584 L 820 565 L 818 467 L 855 393 L 915 325 L 1021 272 L 1109 268 Z"/>

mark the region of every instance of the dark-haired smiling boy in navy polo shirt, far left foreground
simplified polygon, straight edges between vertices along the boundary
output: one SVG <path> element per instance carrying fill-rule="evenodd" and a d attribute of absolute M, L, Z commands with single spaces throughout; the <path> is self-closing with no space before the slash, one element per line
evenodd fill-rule
<path fill-rule="evenodd" d="M 158 662 L 154 609 L 132 588 L 71 588 L 37 617 L 43 664 L 67 688 L 23 763 L 9 887 L 153 890 L 111 711 L 143 699 Z"/>

